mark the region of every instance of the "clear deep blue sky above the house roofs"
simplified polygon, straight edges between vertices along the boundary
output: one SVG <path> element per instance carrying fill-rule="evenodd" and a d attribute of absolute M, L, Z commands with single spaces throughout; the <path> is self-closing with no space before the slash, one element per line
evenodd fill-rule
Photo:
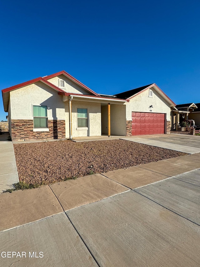
<path fill-rule="evenodd" d="M 184 0 L 2 1 L 0 89 L 65 70 L 97 93 L 156 83 L 198 103 L 199 13 Z"/>

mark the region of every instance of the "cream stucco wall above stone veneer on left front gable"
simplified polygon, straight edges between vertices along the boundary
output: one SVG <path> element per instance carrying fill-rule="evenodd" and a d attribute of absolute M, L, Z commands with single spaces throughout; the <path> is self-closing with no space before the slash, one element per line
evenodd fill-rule
<path fill-rule="evenodd" d="M 10 92 L 11 119 L 33 120 L 33 105 L 47 106 L 49 120 L 65 120 L 63 96 L 42 82 Z"/>

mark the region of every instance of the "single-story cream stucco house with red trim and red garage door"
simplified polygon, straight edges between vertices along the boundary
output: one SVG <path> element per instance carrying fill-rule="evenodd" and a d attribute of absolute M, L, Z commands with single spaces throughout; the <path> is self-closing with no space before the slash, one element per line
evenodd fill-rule
<path fill-rule="evenodd" d="M 172 100 L 150 84 L 94 92 L 65 71 L 2 90 L 12 140 L 170 133 Z"/>

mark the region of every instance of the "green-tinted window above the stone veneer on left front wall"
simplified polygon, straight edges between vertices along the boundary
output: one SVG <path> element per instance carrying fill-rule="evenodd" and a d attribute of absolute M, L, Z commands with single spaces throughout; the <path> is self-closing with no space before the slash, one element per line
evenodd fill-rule
<path fill-rule="evenodd" d="M 47 106 L 33 106 L 33 127 L 47 128 Z"/>

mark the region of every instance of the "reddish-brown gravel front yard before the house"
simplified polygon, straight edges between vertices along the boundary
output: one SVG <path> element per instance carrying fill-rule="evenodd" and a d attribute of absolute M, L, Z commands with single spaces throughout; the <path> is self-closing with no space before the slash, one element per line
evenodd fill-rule
<path fill-rule="evenodd" d="M 126 140 L 50 141 L 14 144 L 19 180 L 49 184 L 186 153 Z"/>

